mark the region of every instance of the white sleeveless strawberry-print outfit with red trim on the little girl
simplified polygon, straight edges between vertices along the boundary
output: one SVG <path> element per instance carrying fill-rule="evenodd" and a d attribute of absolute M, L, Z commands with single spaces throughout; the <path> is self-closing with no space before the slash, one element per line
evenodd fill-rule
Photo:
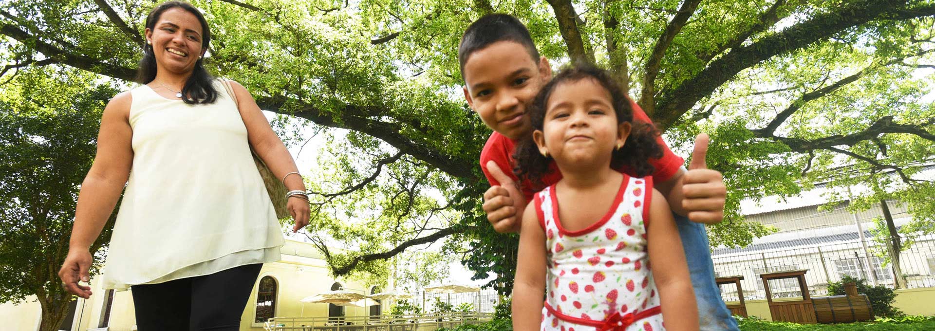
<path fill-rule="evenodd" d="M 540 330 L 665 330 L 643 221 L 652 190 L 652 177 L 624 175 L 607 214 L 573 232 L 558 219 L 555 185 L 535 195 L 549 258 Z"/>

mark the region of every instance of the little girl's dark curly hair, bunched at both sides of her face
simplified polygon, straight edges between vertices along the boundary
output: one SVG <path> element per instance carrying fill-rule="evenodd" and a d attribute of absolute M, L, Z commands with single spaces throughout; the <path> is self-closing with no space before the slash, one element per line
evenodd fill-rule
<path fill-rule="evenodd" d="M 633 108 L 630 107 L 630 100 L 626 97 L 624 90 L 615 79 L 611 78 L 610 73 L 593 65 L 575 65 L 565 68 L 542 87 L 536 98 L 532 100 L 532 104 L 528 106 L 529 122 L 533 130 L 542 130 L 549 97 L 555 89 L 562 84 L 582 79 L 594 79 L 606 89 L 611 94 L 611 106 L 617 115 L 617 123 L 629 122 L 633 128 L 630 135 L 626 137 L 624 147 L 612 152 L 611 167 L 624 170 L 636 177 L 652 174 L 654 168 L 649 160 L 662 157 L 662 147 L 656 142 L 659 132 L 652 123 L 633 121 Z M 552 158 L 539 153 L 539 147 L 533 141 L 531 133 L 519 142 L 516 151 L 513 152 L 513 159 L 516 161 L 513 173 L 521 179 L 530 180 L 536 186 L 540 186 L 542 177 L 551 171 L 549 165 Z"/>

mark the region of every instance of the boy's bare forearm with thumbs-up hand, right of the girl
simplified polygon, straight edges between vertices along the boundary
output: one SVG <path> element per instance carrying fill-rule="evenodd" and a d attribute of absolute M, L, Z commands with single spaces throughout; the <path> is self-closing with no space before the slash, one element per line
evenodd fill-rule
<path fill-rule="evenodd" d="M 669 180 L 657 181 L 654 186 L 675 213 L 688 216 L 692 222 L 716 224 L 724 220 L 727 188 L 721 172 L 708 169 L 707 152 L 708 135 L 698 135 L 688 171 L 680 168 Z"/>

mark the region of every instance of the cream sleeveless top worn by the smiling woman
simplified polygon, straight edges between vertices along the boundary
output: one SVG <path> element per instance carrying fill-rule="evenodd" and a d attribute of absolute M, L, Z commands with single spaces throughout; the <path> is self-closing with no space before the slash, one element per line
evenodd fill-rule
<path fill-rule="evenodd" d="M 149 86 L 130 94 L 133 167 L 110 239 L 104 288 L 126 290 L 280 260 L 280 223 L 247 128 L 219 80 L 188 105 Z"/>

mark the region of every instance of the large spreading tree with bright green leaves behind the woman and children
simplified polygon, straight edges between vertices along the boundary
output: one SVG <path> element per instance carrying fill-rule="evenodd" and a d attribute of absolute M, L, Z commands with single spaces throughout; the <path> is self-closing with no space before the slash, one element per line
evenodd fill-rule
<path fill-rule="evenodd" d="M 917 71 L 932 66 L 932 1 L 194 4 L 214 35 L 215 73 L 243 83 L 262 108 L 338 135 L 310 174 L 309 230 L 338 275 L 449 238 L 445 252 L 476 277 L 511 287 L 516 239 L 494 233 L 479 208 L 489 130 L 460 100 L 456 57 L 468 23 L 490 12 L 519 17 L 558 63 L 609 67 L 677 150 L 712 135 L 709 165 L 730 188 L 726 222 L 710 227 L 714 245 L 769 232 L 743 221 L 743 198 L 796 194 L 840 165 L 908 174 L 918 167 L 910 156 L 933 155 L 931 85 Z M 154 5 L 7 0 L 2 55 L 8 68 L 54 62 L 130 80 Z M 905 181 L 906 190 L 930 185 Z M 917 200 L 916 210 L 933 209 Z M 330 252 L 334 241 L 357 251 Z"/>

